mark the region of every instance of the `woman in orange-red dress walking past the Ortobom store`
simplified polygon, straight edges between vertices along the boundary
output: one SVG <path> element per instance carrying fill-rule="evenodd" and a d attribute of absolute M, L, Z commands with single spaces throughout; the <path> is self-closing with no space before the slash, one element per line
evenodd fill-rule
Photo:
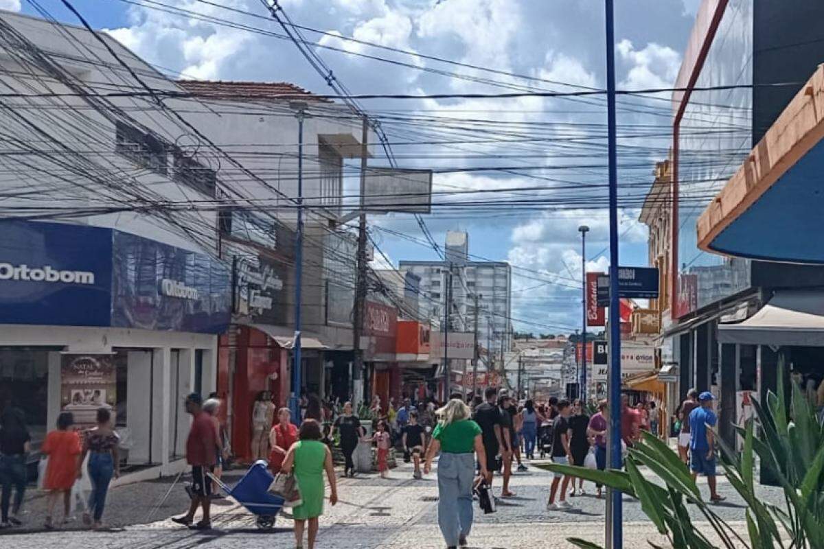
<path fill-rule="evenodd" d="M 63 523 L 68 522 L 71 504 L 72 486 L 77 479 L 77 459 L 82 453 L 80 436 L 72 429 L 74 416 L 72 412 L 60 412 L 57 418 L 57 430 L 46 435 L 40 452 L 49 456 L 43 480 L 44 490 L 49 491 L 48 511 L 45 528 L 54 528 L 52 515 L 54 506 L 63 494 Z"/>

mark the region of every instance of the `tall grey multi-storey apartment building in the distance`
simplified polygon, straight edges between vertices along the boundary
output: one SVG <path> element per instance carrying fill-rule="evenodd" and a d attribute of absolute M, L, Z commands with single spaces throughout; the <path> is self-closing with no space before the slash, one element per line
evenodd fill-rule
<path fill-rule="evenodd" d="M 512 268 L 500 261 L 472 261 L 469 235 L 448 231 L 446 258 L 439 261 L 400 261 L 400 269 L 420 277 L 419 310 L 433 326 L 442 326 L 445 291 L 452 267 L 452 331 L 475 329 L 475 295 L 478 299 L 478 342 L 493 351 L 508 351 L 512 341 Z"/>

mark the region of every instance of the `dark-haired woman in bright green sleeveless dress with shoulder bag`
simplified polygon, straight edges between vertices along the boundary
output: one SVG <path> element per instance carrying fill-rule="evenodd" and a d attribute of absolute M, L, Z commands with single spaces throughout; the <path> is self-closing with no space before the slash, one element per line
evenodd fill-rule
<path fill-rule="evenodd" d="M 297 486 L 301 490 L 302 504 L 292 509 L 295 519 L 295 540 L 297 549 L 303 547 L 303 531 L 309 521 L 309 549 L 314 549 L 317 537 L 318 517 L 323 514 L 323 472 L 329 479 L 329 502 L 335 505 L 338 502 L 338 486 L 335 484 L 335 466 L 332 464 L 332 453 L 326 444 L 321 442 L 323 432 L 321 424 L 315 420 L 303 421 L 297 434 L 299 439 L 283 459 L 281 471 L 292 471 L 297 479 Z"/>

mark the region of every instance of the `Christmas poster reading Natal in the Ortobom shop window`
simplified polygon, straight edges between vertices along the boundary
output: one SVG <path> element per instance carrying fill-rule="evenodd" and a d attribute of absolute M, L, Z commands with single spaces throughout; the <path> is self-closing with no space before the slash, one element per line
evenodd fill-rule
<path fill-rule="evenodd" d="M 94 426 L 98 408 L 113 410 L 117 402 L 116 388 L 111 355 L 62 356 L 60 407 L 64 412 L 72 412 L 77 426 Z"/>

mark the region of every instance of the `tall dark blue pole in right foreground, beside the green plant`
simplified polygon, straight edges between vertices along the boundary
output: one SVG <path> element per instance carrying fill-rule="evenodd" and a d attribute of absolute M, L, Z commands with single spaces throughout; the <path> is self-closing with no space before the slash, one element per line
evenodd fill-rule
<path fill-rule="evenodd" d="M 616 156 L 616 66 L 615 21 L 613 0 L 605 0 L 606 8 L 606 125 L 607 157 L 610 176 L 610 394 L 609 444 L 612 450 L 610 467 L 621 468 L 620 447 L 620 301 L 618 295 L 618 160 Z M 607 523 L 612 525 L 611 549 L 623 549 L 623 509 L 621 493 L 613 490 L 612 514 Z"/>

